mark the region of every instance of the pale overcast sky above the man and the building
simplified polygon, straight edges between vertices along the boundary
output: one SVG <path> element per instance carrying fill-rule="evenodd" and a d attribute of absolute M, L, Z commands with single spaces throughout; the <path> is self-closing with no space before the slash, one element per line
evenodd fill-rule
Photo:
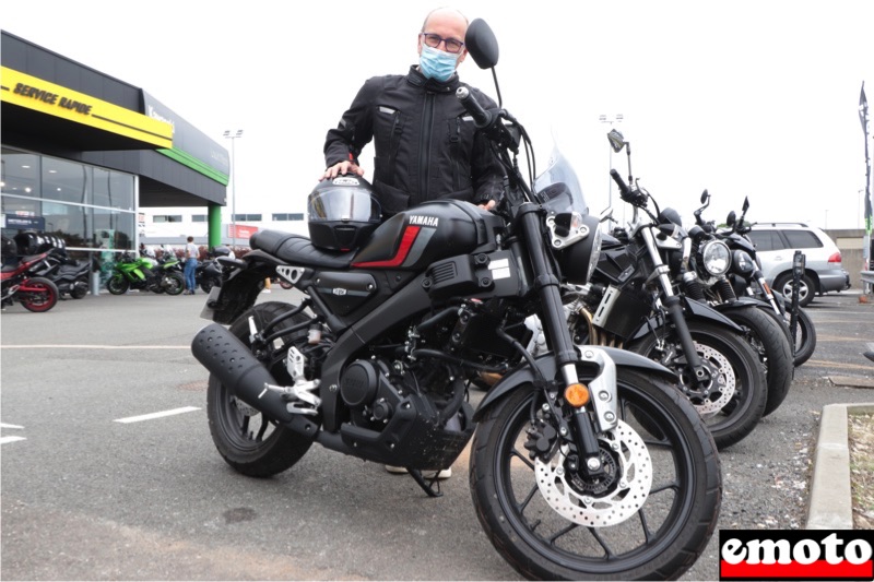
<path fill-rule="evenodd" d="M 0 26 L 142 87 L 231 150 L 237 213 L 304 212 L 322 146 L 368 76 L 417 60 L 439 2 L 185 0 L 4 2 Z M 500 44 L 504 106 L 544 167 L 553 139 L 592 211 L 607 205 L 611 158 L 599 116 L 622 114 L 631 169 L 686 222 L 724 219 L 748 197 L 753 221 L 863 224 L 862 82 L 874 103 L 874 2 L 460 1 Z M 300 13 L 295 12 L 300 10 Z M 462 80 L 493 97 L 472 59 Z M 373 175 L 373 154 L 362 163 Z M 228 191 L 228 194 L 231 192 Z M 612 193 L 615 215 L 622 202 Z M 630 215 L 630 213 L 628 213 Z"/>

